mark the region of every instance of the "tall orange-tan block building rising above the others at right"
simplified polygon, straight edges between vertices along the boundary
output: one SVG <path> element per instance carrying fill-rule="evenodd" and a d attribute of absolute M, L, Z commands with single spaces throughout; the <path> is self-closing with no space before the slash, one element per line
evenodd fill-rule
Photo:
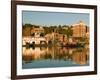
<path fill-rule="evenodd" d="M 86 34 L 89 34 L 89 27 L 84 24 L 82 21 L 78 24 L 72 25 L 73 37 L 86 37 Z M 87 35 L 89 36 L 89 35 Z"/>

